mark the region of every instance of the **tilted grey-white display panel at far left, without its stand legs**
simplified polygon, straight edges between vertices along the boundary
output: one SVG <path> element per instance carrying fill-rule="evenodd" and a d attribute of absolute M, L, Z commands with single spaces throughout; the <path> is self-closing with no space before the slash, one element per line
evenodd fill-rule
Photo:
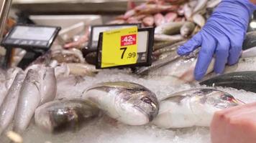
<path fill-rule="evenodd" d="M 1 46 L 47 51 L 52 46 L 59 31 L 60 27 L 17 25 L 4 37 Z"/>

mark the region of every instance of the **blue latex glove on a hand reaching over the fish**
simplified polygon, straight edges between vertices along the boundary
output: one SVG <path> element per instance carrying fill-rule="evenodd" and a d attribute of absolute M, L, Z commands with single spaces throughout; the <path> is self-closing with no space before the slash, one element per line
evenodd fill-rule
<path fill-rule="evenodd" d="M 214 71 L 221 74 L 225 64 L 236 64 L 242 52 L 247 26 L 256 6 L 249 0 L 222 0 L 206 25 L 178 49 L 179 55 L 188 55 L 201 46 L 194 77 L 201 80 L 215 54 Z"/>

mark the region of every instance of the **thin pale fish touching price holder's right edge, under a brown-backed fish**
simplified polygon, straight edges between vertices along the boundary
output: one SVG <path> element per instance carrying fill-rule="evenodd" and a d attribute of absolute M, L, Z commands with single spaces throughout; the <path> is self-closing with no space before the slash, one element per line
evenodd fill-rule
<path fill-rule="evenodd" d="M 165 35 L 165 34 L 155 34 L 155 41 L 182 41 L 184 38 L 180 34 L 178 35 Z"/>

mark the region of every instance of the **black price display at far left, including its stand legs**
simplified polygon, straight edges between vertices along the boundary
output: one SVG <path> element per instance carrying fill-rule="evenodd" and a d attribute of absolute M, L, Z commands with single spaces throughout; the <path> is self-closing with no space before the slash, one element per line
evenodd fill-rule
<path fill-rule="evenodd" d="M 11 64 L 12 51 L 14 48 L 22 48 L 27 51 L 18 66 L 26 68 L 37 57 L 50 49 L 53 41 L 58 36 L 60 27 L 17 25 L 1 41 L 1 46 L 6 49 L 4 68 L 8 69 Z"/>

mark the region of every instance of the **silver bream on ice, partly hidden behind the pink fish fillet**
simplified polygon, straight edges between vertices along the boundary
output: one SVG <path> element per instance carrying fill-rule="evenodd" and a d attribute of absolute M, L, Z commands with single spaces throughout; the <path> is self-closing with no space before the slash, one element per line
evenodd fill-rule
<path fill-rule="evenodd" d="M 216 89 L 191 89 L 160 101 L 160 110 L 152 124 L 165 129 L 209 127 L 216 111 L 239 104 L 232 95 Z"/>

